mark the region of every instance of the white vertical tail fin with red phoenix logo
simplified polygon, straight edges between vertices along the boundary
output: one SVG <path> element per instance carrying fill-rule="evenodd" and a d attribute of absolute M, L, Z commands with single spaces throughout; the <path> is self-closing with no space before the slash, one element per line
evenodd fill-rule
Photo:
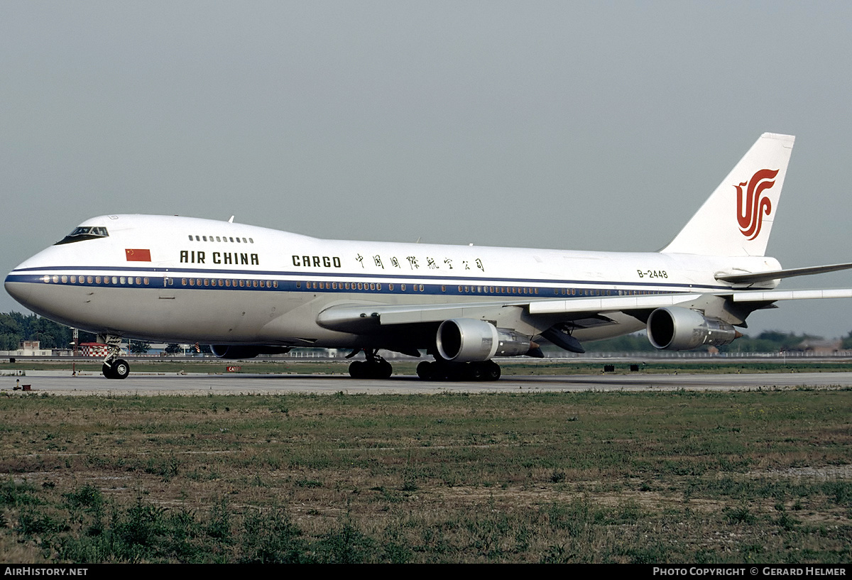
<path fill-rule="evenodd" d="M 764 133 L 661 252 L 763 256 L 772 230 L 792 135 Z"/>

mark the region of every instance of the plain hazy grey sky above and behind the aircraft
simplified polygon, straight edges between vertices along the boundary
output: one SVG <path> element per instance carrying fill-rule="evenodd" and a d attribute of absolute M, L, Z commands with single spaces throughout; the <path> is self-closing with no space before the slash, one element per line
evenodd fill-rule
<path fill-rule="evenodd" d="M 107 213 L 656 250 L 764 131 L 797 135 L 769 254 L 852 261 L 850 30 L 848 2 L 5 0 L 0 270 Z M 783 287 L 817 286 L 852 273 Z"/>

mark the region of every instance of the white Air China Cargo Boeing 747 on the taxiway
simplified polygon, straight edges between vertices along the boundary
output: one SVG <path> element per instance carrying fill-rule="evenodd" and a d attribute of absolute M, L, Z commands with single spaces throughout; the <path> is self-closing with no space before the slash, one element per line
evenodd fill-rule
<path fill-rule="evenodd" d="M 852 290 L 774 290 L 780 279 L 852 267 L 781 269 L 764 256 L 790 135 L 762 135 L 658 252 L 533 250 L 309 238 L 229 221 L 101 215 L 6 277 L 15 300 L 98 334 L 107 378 L 128 376 L 123 338 L 205 342 L 225 359 L 296 347 L 363 352 L 354 377 L 387 378 L 382 349 L 435 357 L 428 380 L 496 380 L 494 357 L 539 342 L 648 329 L 654 347 L 723 345 L 774 302 Z"/>

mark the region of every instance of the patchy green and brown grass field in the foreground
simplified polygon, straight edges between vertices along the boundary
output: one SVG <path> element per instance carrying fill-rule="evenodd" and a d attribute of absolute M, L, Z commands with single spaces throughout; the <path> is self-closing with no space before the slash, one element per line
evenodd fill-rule
<path fill-rule="evenodd" d="M 0 560 L 849 563 L 850 398 L 2 396 Z"/>

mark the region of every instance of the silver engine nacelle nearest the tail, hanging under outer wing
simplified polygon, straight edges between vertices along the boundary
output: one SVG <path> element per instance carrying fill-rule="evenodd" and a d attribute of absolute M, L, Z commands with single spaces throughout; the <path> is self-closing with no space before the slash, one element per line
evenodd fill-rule
<path fill-rule="evenodd" d="M 689 350 L 702 344 L 721 347 L 739 336 L 727 322 L 708 319 L 689 308 L 657 308 L 648 317 L 648 340 L 659 349 Z"/>

